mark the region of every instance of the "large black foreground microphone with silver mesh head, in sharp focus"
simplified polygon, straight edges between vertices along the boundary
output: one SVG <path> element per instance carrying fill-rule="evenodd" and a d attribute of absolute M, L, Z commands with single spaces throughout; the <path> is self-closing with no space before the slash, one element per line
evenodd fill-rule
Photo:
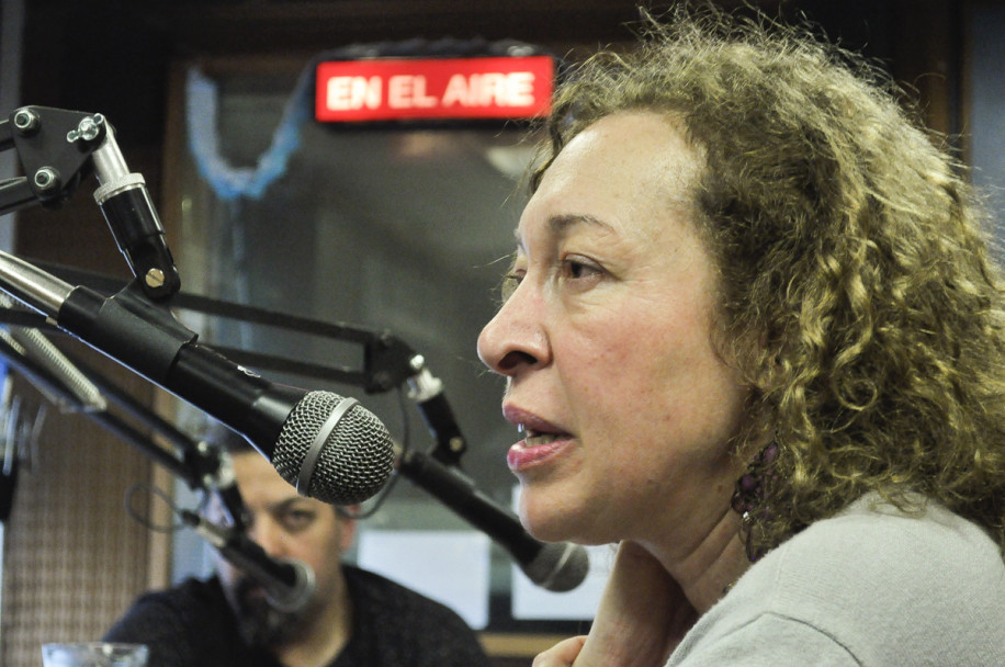
<path fill-rule="evenodd" d="M 0 252 L 0 286 L 99 352 L 242 434 L 304 496 L 357 505 L 391 477 L 387 428 L 353 398 L 271 383 L 218 352 L 137 282 L 111 297 Z"/>

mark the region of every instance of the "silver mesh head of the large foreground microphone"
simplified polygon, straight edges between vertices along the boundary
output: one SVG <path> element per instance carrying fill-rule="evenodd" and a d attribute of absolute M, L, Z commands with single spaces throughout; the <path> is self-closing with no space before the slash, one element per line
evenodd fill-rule
<path fill-rule="evenodd" d="M 290 412 L 272 452 L 272 466 L 296 486 L 307 456 L 328 417 L 342 402 L 331 392 L 308 392 Z M 325 439 L 306 489 L 332 505 L 354 505 L 376 494 L 391 477 L 394 448 L 387 428 L 373 412 L 353 405 Z"/>

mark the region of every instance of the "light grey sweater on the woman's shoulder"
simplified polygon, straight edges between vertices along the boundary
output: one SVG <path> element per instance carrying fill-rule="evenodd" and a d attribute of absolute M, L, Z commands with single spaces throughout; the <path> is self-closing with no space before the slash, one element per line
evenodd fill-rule
<path fill-rule="evenodd" d="M 867 497 L 754 565 L 667 663 L 734 665 L 1003 667 L 1002 554 L 940 506 Z"/>

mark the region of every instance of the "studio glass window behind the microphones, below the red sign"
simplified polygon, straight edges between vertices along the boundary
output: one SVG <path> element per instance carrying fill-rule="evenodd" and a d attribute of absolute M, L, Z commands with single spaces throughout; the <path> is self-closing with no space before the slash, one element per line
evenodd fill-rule
<path fill-rule="evenodd" d="M 345 127 L 308 120 L 292 131 L 295 70 L 207 71 L 189 70 L 185 99 L 174 101 L 188 113 L 171 139 L 180 157 L 169 173 L 177 196 L 166 211 L 177 206 L 180 221 L 181 245 L 174 252 L 182 290 L 391 331 L 422 354 L 443 382 L 468 442 L 462 468 L 508 507 L 516 481 L 505 452 L 516 432 L 499 410 L 501 380 L 478 361 L 475 341 L 497 306 L 526 201 L 521 181 L 533 156 L 527 128 L 501 123 Z M 237 190 L 246 194 L 237 196 Z M 190 326 L 211 346 L 361 366 L 361 348 L 353 343 L 208 316 Z M 360 399 L 396 440 L 405 437 L 407 425 L 415 449 L 434 443 L 407 399 L 403 417 L 396 392 L 365 395 L 351 384 L 259 370 L 270 380 Z M 377 512 L 361 523 L 355 555 L 366 556 L 362 552 L 372 545 L 377 554 L 388 554 L 393 545 L 408 544 L 414 531 L 422 532 L 408 557 L 399 554 L 398 561 L 417 558 L 416 546 L 444 536 L 459 538 L 452 545 L 461 550 L 471 546 L 464 538 L 483 538 L 490 556 L 483 557 L 487 599 L 474 606 L 485 615 L 482 621 L 477 611 L 473 621 L 465 617 L 476 628 L 584 630 L 581 620 L 515 618 L 512 561 L 506 552 L 489 547 L 484 535 L 407 479 L 398 481 Z M 197 538 L 191 540 L 197 546 Z M 204 567 L 197 553 L 191 557 L 192 549 L 180 542 L 176 578 L 187 574 L 185 567 Z M 433 558 L 449 552 L 437 549 Z M 429 580 L 442 569 L 455 574 L 450 566 L 432 566 Z M 572 600 L 564 604 L 575 608 Z M 592 606 L 590 598 L 585 609 Z"/>

